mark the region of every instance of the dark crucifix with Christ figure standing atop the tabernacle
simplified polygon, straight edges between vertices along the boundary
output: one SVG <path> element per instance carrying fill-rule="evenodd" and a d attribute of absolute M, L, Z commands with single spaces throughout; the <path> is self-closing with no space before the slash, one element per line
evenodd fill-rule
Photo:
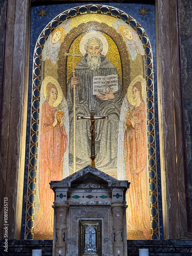
<path fill-rule="evenodd" d="M 98 119 L 108 119 L 108 116 L 94 116 L 95 112 L 93 110 L 90 111 L 90 116 L 77 116 L 78 119 L 87 119 L 91 121 L 90 125 L 90 133 L 91 133 L 91 165 L 95 167 L 95 121 Z"/>

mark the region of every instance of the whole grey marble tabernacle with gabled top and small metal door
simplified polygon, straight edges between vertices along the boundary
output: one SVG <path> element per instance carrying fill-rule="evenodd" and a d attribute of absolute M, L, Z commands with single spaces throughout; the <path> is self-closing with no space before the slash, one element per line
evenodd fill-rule
<path fill-rule="evenodd" d="M 129 185 L 91 165 L 61 181 L 51 181 L 55 193 L 53 256 L 126 256 L 125 193 Z M 90 253 L 85 250 L 85 234 L 91 230 L 87 228 L 95 230 L 96 236 L 96 249 Z"/>

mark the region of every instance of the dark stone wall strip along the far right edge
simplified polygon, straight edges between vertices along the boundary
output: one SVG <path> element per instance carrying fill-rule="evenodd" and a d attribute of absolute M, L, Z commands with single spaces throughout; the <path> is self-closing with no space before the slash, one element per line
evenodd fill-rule
<path fill-rule="evenodd" d="M 186 193 L 188 204 L 188 226 L 191 229 L 192 220 L 192 2 L 179 1 L 180 14 L 180 40 L 182 63 L 182 93 L 184 105 L 184 131 L 185 131 L 185 164 L 188 187 Z"/>

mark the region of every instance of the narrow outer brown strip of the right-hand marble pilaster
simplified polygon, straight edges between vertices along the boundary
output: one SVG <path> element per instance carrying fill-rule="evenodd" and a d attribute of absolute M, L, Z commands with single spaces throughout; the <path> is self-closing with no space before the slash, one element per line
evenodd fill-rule
<path fill-rule="evenodd" d="M 175 126 L 175 146 L 176 146 L 176 173 L 178 179 L 178 205 L 179 205 L 179 222 L 180 238 L 187 238 L 186 222 L 186 201 L 185 201 L 185 180 L 183 166 L 183 138 L 182 138 L 182 104 L 181 104 L 181 80 L 180 80 L 180 60 L 179 60 L 179 34 L 178 32 L 178 6 L 177 1 L 171 1 L 169 4 L 170 16 L 170 42 L 172 53 L 172 88 L 173 88 L 173 105 L 174 105 L 174 126 Z M 177 75 L 176 75 L 177 74 Z"/>

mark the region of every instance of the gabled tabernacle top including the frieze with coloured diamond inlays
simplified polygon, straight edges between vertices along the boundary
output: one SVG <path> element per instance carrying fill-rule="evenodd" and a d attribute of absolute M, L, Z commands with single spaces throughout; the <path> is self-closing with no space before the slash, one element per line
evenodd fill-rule
<path fill-rule="evenodd" d="M 119 181 L 88 165 L 61 181 L 51 181 L 56 203 L 111 204 L 124 203 L 130 183 Z"/>

